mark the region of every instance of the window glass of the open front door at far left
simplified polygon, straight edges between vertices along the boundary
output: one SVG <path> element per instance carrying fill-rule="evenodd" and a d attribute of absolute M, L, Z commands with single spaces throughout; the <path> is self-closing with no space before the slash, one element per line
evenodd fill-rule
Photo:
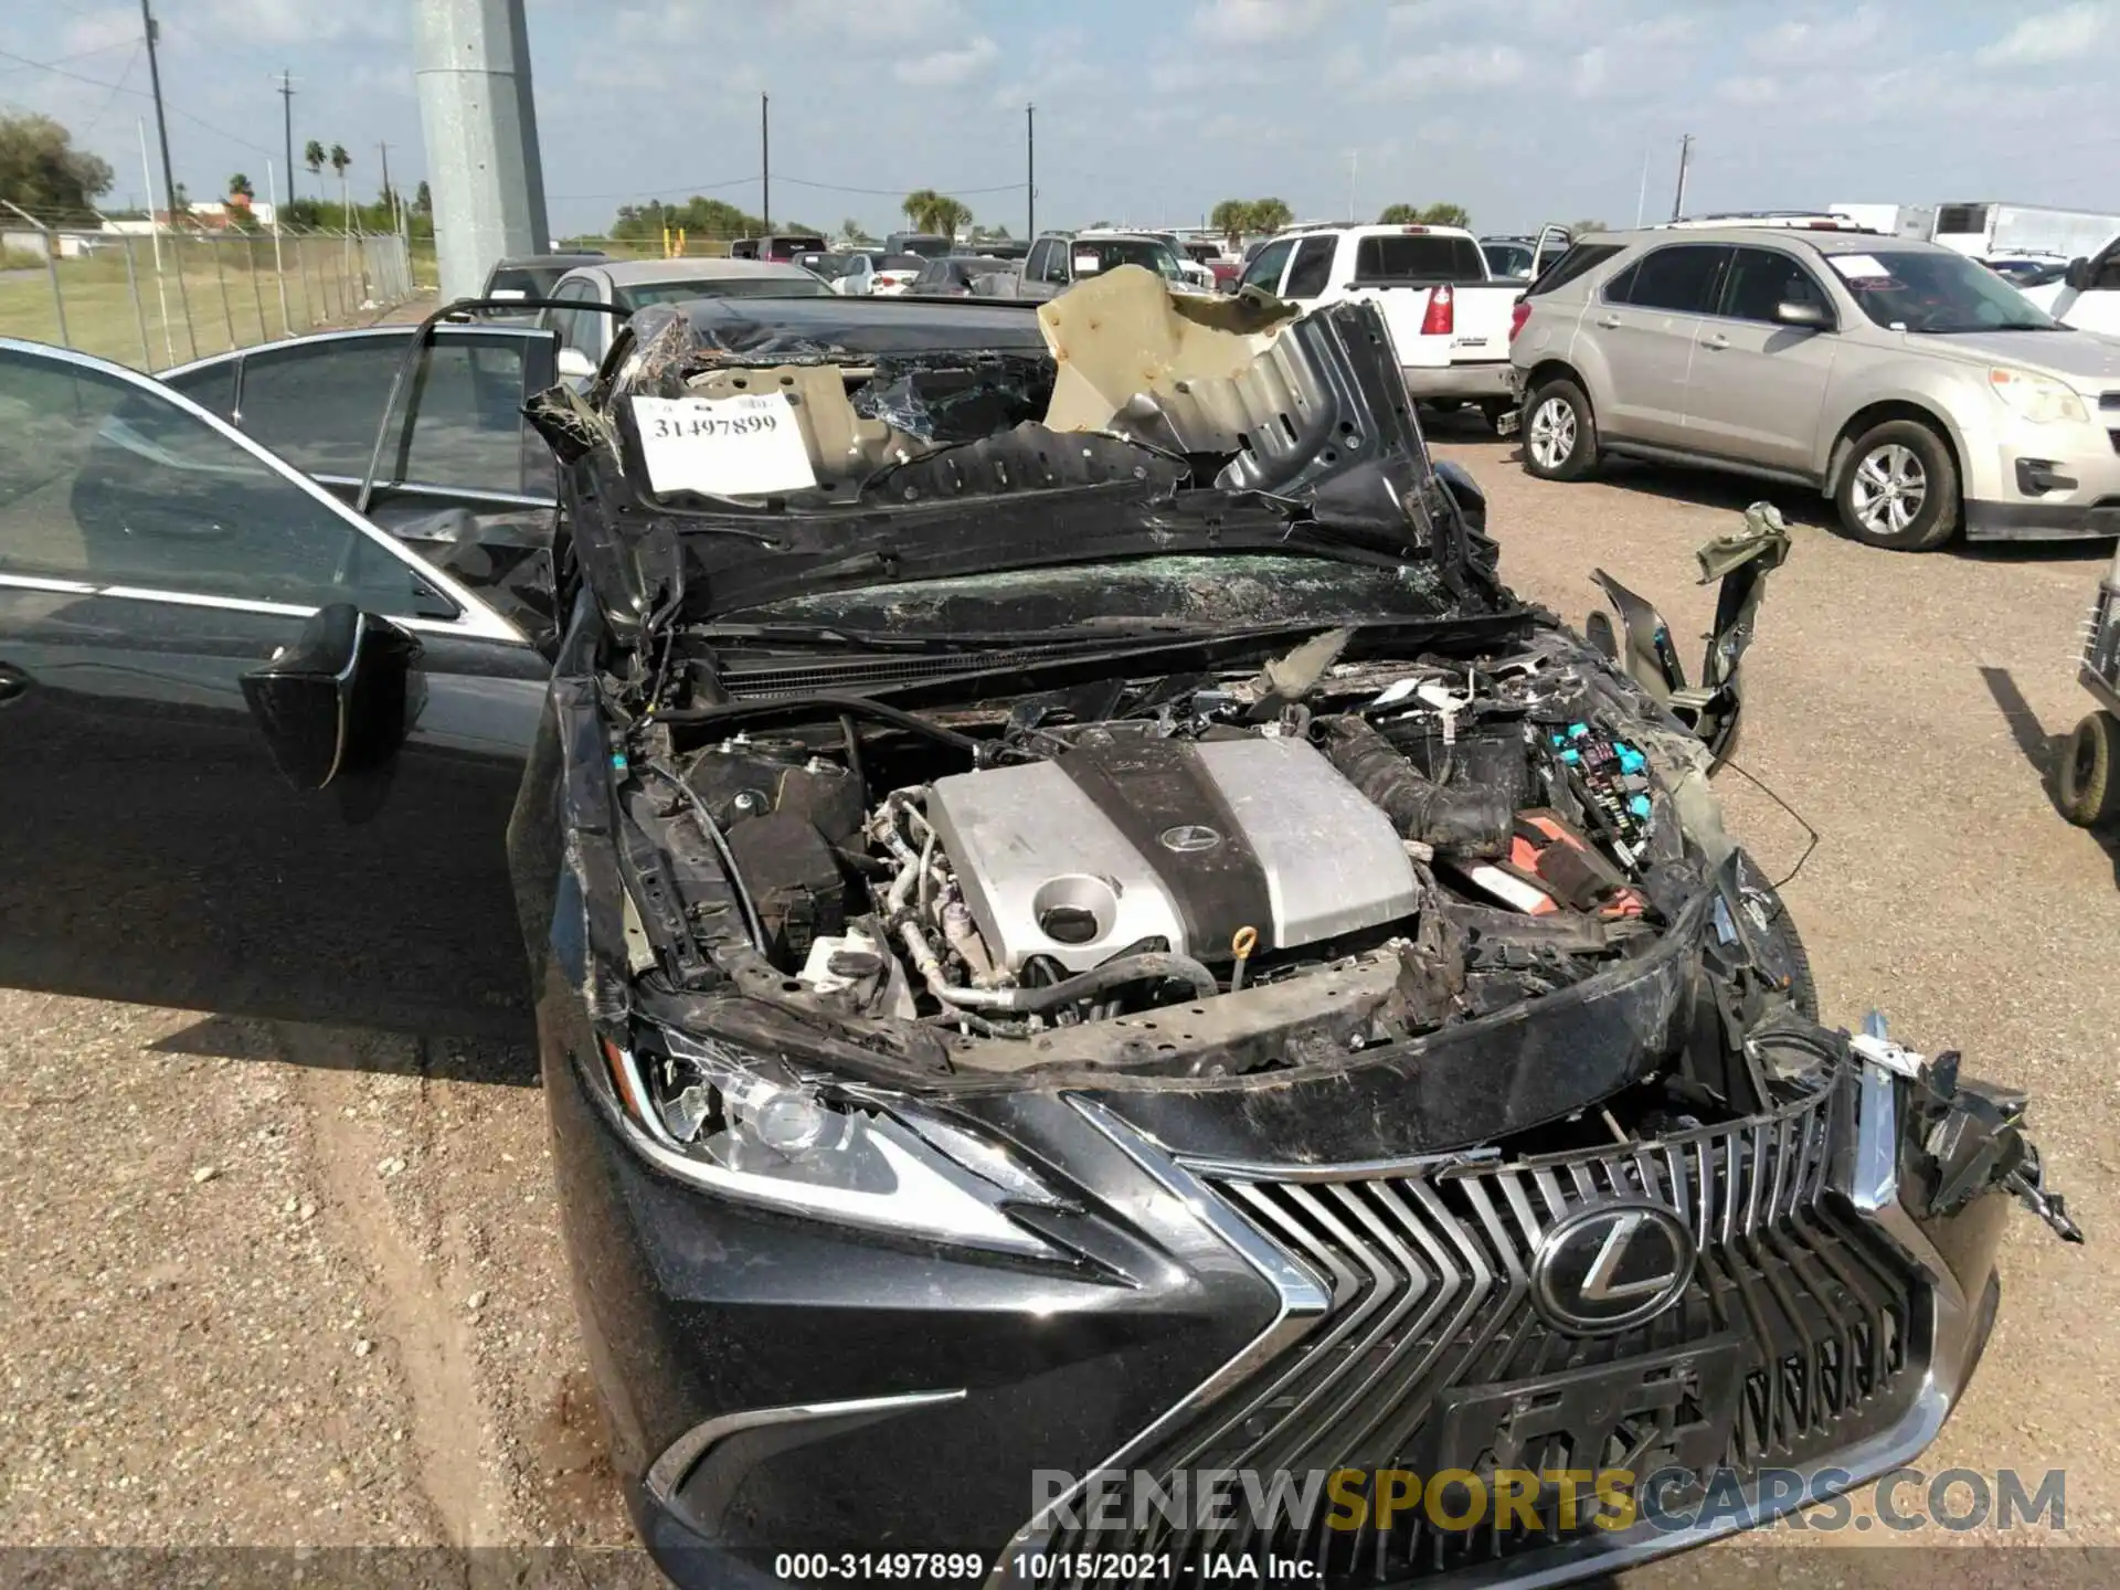
<path fill-rule="evenodd" d="M 4 350 L 0 572 L 454 617 L 411 564 L 170 396 Z"/>

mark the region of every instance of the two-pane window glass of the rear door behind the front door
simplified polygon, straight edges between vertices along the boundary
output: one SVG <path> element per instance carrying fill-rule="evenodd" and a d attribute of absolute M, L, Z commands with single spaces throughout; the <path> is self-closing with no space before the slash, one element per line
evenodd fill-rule
<path fill-rule="evenodd" d="M 310 475 L 367 475 L 405 343 L 346 337 L 252 354 L 242 428 Z M 522 492 L 522 337 L 441 335 L 399 394 L 377 481 Z"/>

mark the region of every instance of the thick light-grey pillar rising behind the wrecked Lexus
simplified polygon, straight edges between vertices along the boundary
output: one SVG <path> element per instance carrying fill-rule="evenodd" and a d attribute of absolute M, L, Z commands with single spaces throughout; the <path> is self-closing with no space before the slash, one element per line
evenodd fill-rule
<path fill-rule="evenodd" d="M 443 301 L 505 254 L 543 254 L 545 170 L 524 0 L 418 0 L 420 129 Z"/>

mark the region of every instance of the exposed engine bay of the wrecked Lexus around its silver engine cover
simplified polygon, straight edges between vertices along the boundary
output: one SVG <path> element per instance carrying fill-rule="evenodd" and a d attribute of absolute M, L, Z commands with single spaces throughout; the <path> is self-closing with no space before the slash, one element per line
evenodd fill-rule
<path fill-rule="evenodd" d="M 859 697 L 808 723 L 672 710 L 668 774 L 632 801 L 678 863 L 702 975 L 755 950 L 818 1011 L 950 1035 L 952 1066 L 1215 1075 L 1403 1039 L 1624 960 L 1719 867 L 1762 992 L 1796 984 L 1704 753 L 1601 657 L 1543 634 L 1340 661 L 1350 638 L 926 721 Z"/>

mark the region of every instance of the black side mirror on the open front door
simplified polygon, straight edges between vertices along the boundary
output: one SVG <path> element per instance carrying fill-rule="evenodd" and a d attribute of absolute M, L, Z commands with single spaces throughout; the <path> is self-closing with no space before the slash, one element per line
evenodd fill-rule
<path fill-rule="evenodd" d="M 405 740 L 420 642 L 352 602 L 318 608 L 295 644 L 244 674 L 244 700 L 295 789 L 386 763 Z"/>

